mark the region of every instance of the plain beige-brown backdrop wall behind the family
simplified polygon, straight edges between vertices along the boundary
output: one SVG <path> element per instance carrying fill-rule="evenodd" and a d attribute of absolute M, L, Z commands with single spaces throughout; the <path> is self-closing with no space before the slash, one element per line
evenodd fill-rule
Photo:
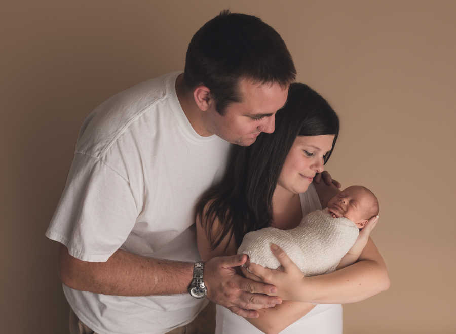
<path fill-rule="evenodd" d="M 345 306 L 345 333 L 454 333 L 456 5 L 452 1 L 17 1 L 0 9 L 2 332 L 64 333 L 44 232 L 85 116 L 183 68 L 221 9 L 282 35 L 298 81 L 341 118 L 327 168 L 381 200 L 389 291 Z M 5 328 L 6 326 L 6 328 Z"/>

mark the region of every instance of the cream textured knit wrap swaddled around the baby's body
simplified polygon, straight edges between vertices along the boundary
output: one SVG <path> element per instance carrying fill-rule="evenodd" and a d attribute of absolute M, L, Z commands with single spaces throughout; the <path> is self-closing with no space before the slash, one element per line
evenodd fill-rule
<path fill-rule="evenodd" d="M 267 227 L 247 233 L 238 254 L 247 254 L 250 262 L 276 269 L 280 263 L 270 249 L 275 243 L 306 276 L 321 275 L 336 269 L 358 234 L 355 223 L 344 217 L 333 218 L 326 208 L 309 213 L 290 230 Z"/>

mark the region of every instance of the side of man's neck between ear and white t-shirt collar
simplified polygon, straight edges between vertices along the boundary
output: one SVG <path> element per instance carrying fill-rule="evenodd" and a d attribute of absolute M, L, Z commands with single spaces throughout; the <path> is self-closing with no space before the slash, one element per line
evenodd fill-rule
<path fill-rule="evenodd" d="M 196 105 L 192 91 L 185 86 L 183 74 L 176 79 L 176 95 L 185 117 L 197 134 L 204 137 L 212 135 L 206 130 L 203 111 Z"/>

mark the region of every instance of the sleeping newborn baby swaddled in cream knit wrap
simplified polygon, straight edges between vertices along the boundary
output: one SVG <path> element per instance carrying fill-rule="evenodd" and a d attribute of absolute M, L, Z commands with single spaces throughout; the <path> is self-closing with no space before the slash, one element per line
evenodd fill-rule
<path fill-rule="evenodd" d="M 290 230 L 267 227 L 244 236 L 238 254 L 250 262 L 276 269 L 279 261 L 272 254 L 277 244 L 306 276 L 334 271 L 350 250 L 369 218 L 378 214 L 378 200 L 363 186 L 351 186 L 331 198 L 328 207 L 304 217 Z"/>

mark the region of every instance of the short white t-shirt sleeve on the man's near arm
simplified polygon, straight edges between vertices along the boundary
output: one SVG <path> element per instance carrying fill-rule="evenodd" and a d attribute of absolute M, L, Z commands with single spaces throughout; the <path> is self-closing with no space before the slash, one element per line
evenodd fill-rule
<path fill-rule="evenodd" d="M 102 160 L 76 153 L 46 236 L 75 258 L 103 262 L 125 242 L 136 217 L 128 180 Z"/>

